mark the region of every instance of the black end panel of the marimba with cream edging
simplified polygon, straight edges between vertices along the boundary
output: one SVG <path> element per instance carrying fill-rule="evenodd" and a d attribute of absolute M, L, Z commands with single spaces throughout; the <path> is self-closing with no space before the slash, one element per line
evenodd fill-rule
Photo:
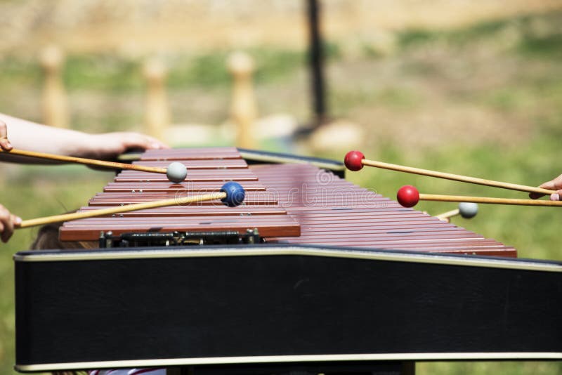
<path fill-rule="evenodd" d="M 14 260 L 18 371 L 562 359 L 561 262 L 279 244 Z"/>

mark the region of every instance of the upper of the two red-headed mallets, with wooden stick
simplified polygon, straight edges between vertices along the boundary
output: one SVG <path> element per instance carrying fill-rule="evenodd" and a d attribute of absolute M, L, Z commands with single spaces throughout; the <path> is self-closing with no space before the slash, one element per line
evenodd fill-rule
<path fill-rule="evenodd" d="M 485 180 L 483 178 L 462 176 L 458 174 L 430 171 L 429 169 L 412 168 L 411 166 L 401 166 L 398 164 L 389 164 L 383 162 L 376 162 L 374 160 L 365 159 L 365 155 L 360 151 L 350 151 L 346 154 L 345 158 L 346 167 L 350 171 L 359 171 L 363 166 L 375 166 L 377 168 L 391 169 L 393 171 L 414 173 L 422 176 L 431 176 L 437 178 L 445 178 L 447 180 L 461 181 L 464 183 L 475 183 L 478 185 L 493 186 L 493 187 L 503 187 L 509 190 L 518 190 L 521 192 L 536 192 L 543 195 L 551 195 L 555 193 L 556 190 L 543 189 L 542 187 L 534 187 L 527 185 L 518 185 L 516 183 L 504 183 L 501 181 Z"/>

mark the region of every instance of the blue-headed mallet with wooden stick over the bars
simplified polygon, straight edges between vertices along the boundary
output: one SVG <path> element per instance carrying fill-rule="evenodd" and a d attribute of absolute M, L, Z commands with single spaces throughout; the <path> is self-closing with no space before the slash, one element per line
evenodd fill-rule
<path fill-rule="evenodd" d="M 221 199 L 221 202 L 227 206 L 238 206 L 244 201 L 244 188 L 234 181 L 229 181 L 221 187 L 219 192 L 204 195 L 192 195 L 190 197 L 178 197 L 172 199 L 162 199 L 154 202 L 144 202 L 129 204 L 127 206 L 116 206 L 107 209 L 98 209 L 93 211 L 83 211 L 74 213 L 65 213 L 63 215 L 46 216 L 44 218 L 34 218 L 25 220 L 15 228 L 30 228 L 37 225 L 60 223 L 61 221 L 71 221 L 81 218 L 94 218 L 97 216 L 111 215 L 113 213 L 122 213 L 128 211 L 137 211 L 143 209 L 155 209 L 157 207 L 176 206 L 181 204 L 190 204 L 195 202 L 211 201 L 214 199 Z"/>

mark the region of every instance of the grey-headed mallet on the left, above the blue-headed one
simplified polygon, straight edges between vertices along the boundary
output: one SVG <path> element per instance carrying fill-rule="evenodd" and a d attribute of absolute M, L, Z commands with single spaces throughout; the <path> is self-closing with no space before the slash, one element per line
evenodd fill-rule
<path fill-rule="evenodd" d="M 10 151 L 0 149 L 0 152 L 6 152 L 6 154 L 15 154 L 25 157 L 36 157 L 38 159 L 56 160 L 58 162 L 103 166 L 105 168 L 110 168 L 110 169 L 131 169 L 133 171 L 162 173 L 165 174 L 168 177 L 168 179 L 174 183 L 181 183 L 183 180 L 185 180 L 185 176 L 187 176 L 188 173 L 187 169 L 185 169 L 185 166 L 180 162 L 172 162 L 169 164 L 167 168 L 161 168 L 157 166 L 142 166 L 137 164 L 107 162 L 105 160 L 85 159 L 83 157 L 70 157 L 64 155 L 47 154 L 46 152 L 17 150 L 15 148 L 13 148 Z"/>

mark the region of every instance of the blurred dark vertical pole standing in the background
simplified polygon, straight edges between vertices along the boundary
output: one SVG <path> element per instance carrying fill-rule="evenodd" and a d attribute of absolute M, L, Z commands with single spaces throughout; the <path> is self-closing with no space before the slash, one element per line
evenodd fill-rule
<path fill-rule="evenodd" d="M 313 96 L 313 127 L 317 128 L 327 118 L 324 86 L 324 55 L 320 35 L 320 4 L 318 0 L 308 0 L 308 27 L 310 33 L 309 61 Z"/>

